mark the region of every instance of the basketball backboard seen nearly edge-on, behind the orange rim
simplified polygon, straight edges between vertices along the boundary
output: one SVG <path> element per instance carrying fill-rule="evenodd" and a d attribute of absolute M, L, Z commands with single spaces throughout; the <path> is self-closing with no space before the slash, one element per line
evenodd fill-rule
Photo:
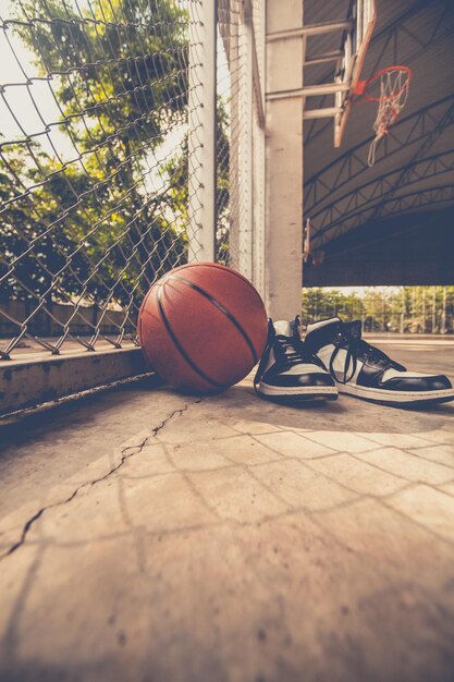
<path fill-rule="evenodd" d="M 341 56 L 335 83 L 348 86 L 334 94 L 334 147 L 340 147 L 348 119 L 352 95 L 358 84 L 366 53 L 377 21 L 376 0 L 351 0 L 347 20 L 351 24 L 342 36 Z"/>

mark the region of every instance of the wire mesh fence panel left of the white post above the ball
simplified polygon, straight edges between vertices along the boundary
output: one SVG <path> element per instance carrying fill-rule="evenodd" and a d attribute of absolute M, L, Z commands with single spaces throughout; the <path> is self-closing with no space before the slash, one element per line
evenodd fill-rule
<path fill-rule="evenodd" d="M 144 294 L 187 258 L 201 0 L 0 7 L 0 357 L 135 344 Z"/>

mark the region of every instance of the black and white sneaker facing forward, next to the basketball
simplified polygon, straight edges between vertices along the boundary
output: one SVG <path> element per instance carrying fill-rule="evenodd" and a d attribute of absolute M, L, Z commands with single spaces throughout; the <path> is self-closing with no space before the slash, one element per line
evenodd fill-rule
<path fill-rule="evenodd" d="M 268 341 L 254 379 L 257 393 L 277 402 L 335 400 L 338 389 L 318 357 L 306 351 L 294 321 L 268 320 Z"/>

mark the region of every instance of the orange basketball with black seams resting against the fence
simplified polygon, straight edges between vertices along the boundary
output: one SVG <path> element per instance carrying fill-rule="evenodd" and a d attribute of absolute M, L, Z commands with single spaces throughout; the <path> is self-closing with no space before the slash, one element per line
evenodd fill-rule
<path fill-rule="evenodd" d="M 212 393 L 241 381 L 260 360 L 267 314 L 253 284 L 235 270 L 189 264 L 151 287 L 137 329 L 148 363 L 163 379 Z"/>

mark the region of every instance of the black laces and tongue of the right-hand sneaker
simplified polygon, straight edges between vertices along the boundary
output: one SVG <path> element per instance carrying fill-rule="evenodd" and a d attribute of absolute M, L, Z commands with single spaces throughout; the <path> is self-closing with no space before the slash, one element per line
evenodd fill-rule
<path fill-rule="evenodd" d="M 391 367 L 394 369 L 400 369 L 401 372 L 405 372 L 405 367 L 403 365 L 400 365 L 395 361 L 391 360 L 391 357 L 383 353 L 383 351 L 380 351 L 380 349 L 376 348 L 375 345 L 370 345 L 361 338 L 361 322 L 359 320 L 355 320 L 353 322 L 343 322 L 339 338 L 335 339 L 333 343 L 335 348 L 330 360 L 330 372 L 331 375 L 335 377 L 335 380 L 340 383 L 348 383 L 348 381 L 353 379 L 358 366 L 359 354 L 361 354 L 364 357 L 367 357 L 367 360 L 369 360 L 372 364 L 380 364 L 383 367 L 383 372 L 385 369 L 390 369 Z M 334 369 L 334 361 L 338 356 L 339 351 L 341 350 L 346 350 L 347 352 L 345 356 L 342 378 L 338 376 Z M 352 374 L 348 376 L 351 365 Z"/>

